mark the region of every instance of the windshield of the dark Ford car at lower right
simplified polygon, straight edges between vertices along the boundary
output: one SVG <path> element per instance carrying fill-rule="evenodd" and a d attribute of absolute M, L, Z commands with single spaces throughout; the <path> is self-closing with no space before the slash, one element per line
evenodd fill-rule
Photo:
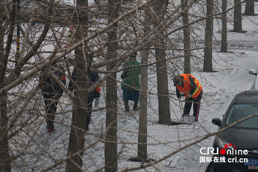
<path fill-rule="evenodd" d="M 234 104 L 226 119 L 226 125 L 233 124 L 234 122 L 241 120 L 247 116 L 258 113 L 258 104 Z M 236 128 L 249 128 L 249 129 L 258 129 L 258 116 L 244 120 L 236 125 Z"/>

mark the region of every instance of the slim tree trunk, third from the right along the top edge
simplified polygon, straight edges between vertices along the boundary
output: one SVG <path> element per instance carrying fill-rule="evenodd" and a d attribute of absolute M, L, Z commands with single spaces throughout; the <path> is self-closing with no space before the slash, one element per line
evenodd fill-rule
<path fill-rule="evenodd" d="M 227 1 L 222 0 L 222 11 L 227 10 Z M 227 13 L 222 14 L 222 31 L 221 31 L 221 46 L 220 52 L 227 52 Z"/>

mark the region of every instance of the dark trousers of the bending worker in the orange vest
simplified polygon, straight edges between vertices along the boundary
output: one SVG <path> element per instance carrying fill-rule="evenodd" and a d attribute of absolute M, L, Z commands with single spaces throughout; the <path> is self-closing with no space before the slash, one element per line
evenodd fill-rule
<path fill-rule="evenodd" d="M 185 99 L 183 116 L 190 114 L 191 106 L 193 103 L 193 116 L 195 116 L 195 120 L 198 120 L 201 99 L 202 99 L 202 91 L 195 99 L 192 97 L 190 99 Z"/>

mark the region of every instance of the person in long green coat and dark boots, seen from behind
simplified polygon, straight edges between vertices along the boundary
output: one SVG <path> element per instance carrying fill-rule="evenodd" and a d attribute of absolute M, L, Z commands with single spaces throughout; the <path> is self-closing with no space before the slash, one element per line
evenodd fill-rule
<path fill-rule="evenodd" d="M 132 54 L 128 60 L 126 60 L 123 64 L 124 67 L 128 66 L 135 66 L 135 65 L 140 65 L 140 62 L 136 60 L 136 55 Z M 124 106 L 125 106 L 125 111 L 129 112 L 129 104 L 128 100 L 134 101 L 134 106 L 133 110 L 139 110 L 140 107 L 138 106 L 138 102 L 140 99 L 140 72 L 141 72 L 141 67 L 131 67 L 126 70 L 124 70 L 121 78 L 123 79 L 123 83 L 121 84 L 121 89 L 123 90 L 123 100 L 124 100 Z M 138 89 L 138 90 L 136 90 Z"/>

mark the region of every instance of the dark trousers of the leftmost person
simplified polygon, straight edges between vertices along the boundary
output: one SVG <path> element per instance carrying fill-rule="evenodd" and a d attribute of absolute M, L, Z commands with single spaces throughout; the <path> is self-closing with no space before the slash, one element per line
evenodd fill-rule
<path fill-rule="evenodd" d="M 45 101 L 45 109 L 46 109 L 46 123 L 47 129 L 54 130 L 54 120 L 55 120 L 55 113 L 56 107 L 58 104 L 58 100 L 62 94 L 53 94 L 53 93 L 44 93 L 44 101 Z"/>

